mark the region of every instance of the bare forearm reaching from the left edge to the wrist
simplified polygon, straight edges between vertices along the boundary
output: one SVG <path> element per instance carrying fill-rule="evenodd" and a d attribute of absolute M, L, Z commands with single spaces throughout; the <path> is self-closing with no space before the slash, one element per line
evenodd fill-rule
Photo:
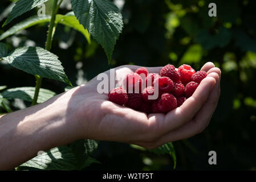
<path fill-rule="evenodd" d="M 67 105 L 67 97 L 61 94 L 43 104 L 0 116 L 0 169 L 12 169 L 38 151 L 75 140 L 75 125 L 69 121 Z"/>

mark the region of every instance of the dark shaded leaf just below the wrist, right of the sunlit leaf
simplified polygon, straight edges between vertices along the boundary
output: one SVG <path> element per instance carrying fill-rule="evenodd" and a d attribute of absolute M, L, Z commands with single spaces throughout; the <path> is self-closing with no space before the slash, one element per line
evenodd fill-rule
<path fill-rule="evenodd" d="M 82 169 L 88 166 L 90 155 L 97 149 L 97 142 L 90 139 L 81 139 L 71 143 L 70 147 L 72 148 L 72 152 L 75 155 L 78 168 Z"/>

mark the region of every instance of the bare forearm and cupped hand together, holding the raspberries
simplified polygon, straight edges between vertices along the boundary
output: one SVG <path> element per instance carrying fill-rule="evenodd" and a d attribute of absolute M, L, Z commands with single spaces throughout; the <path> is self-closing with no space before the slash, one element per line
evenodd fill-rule
<path fill-rule="evenodd" d="M 117 81 L 139 68 L 115 68 Z M 147 68 L 159 73 L 162 67 Z M 58 94 L 50 100 L 0 116 L 0 169 L 8 170 L 36 156 L 38 151 L 77 139 L 109 140 L 152 149 L 190 138 L 208 126 L 220 97 L 221 71 L 213 63 L 201 70 L 208 76 L 184 104 L 167 114 L 145 114 L 108 101 L 97 93 L 100 80 Z M 109 71 L 105 73 L 109 76 Z"/>

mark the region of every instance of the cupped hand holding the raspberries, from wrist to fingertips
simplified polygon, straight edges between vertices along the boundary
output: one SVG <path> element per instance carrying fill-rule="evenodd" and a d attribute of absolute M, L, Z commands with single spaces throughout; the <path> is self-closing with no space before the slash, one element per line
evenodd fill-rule
<path fill-rule="evenodd" d="M 139 66 L 115 68 L 116 83 Z M 149 73 L 160 73 L 162 67 L 147 67 Z M 156 148 L 164 143 L 201 133 L 208 126 L 220 97 L 221 71 L 206 63 L 202 71 L 208 76 L 184 104 L 167 114 L 145 114 L 108 101 L 107 93 L 97 92 L 101 80 L 93 78 L 85 85 L 69 90 L 67 117 L 74 123 L 79 138 L 111 140 Z M 109 77 L 109 71 L 104 72 Z"/>

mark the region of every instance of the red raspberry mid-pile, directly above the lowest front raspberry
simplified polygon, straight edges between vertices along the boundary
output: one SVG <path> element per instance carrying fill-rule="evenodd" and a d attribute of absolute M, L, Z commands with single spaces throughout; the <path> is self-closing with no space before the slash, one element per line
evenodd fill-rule
<path fill-rule="evenodd" d="M 153 86 L 159 86 L 159 92 L 171 92 L 173 89 L 173 81 L 168 77 L 159 77 L 153 82 Z"/>

